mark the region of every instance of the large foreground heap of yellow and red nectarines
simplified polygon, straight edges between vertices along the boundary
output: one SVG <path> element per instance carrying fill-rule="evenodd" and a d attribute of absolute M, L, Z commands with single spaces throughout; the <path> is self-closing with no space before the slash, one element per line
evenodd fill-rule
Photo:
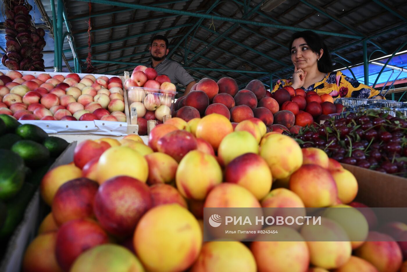
<path fill-rule="evenodd" d="M 321 149 L 301 149 L 291 137 L 266 131 L 257 118 L 234 127 L 212 113 L 168 119 L 151 130 L 148 145 L 138 135 L 79 143 L 72 163 L 42 180 L 52 212 L 27 248 L 23 270 L 398 271 L 406 245 L 394 239 L 407 225 L 372 231 L 374 213 L 352 202 L 352 173 Z M 292 207 L 297 215 L 306 207 L 333 208 L 321 226 L 272 226 L 286 242 L 243 244 L 242 235 L 203 243 L 204 208 L 236 207 Z M 353 227 L 339 220 L 342 210 Z M 317 241 L 326 233 L 332 242 Z"/>

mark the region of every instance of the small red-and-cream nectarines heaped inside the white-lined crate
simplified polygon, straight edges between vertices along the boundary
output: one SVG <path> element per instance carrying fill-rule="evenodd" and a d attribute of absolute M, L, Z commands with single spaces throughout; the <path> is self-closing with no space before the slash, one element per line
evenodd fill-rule
<path fill-rule="evenodd" d="M 88 74 L 23 76 L 9 71 L 0 76 L 0 113 L 17 120 L 126 122 L 123 83 L 114 76 Z"/>

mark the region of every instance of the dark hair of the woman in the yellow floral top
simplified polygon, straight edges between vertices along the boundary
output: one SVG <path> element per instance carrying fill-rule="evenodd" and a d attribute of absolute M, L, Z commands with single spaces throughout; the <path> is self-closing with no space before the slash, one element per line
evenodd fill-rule
<path fill-rule="evenodd" d="M 326 47 L 324 40 L 322 40 L 322 38 L 317 33 L 311 30 L 294 33 L 289 44 L 290 54 L 293 41 L 298 38 L 303 38 L 311 48 L 312 52 L 319 54 L 319 50 L 324 50 L 322 57 L 318 61 L 318 70 L 319 72 L 323 73 L 332 72 L 332 60 L 330 58 L 329 50 L 328 47 Z"/>

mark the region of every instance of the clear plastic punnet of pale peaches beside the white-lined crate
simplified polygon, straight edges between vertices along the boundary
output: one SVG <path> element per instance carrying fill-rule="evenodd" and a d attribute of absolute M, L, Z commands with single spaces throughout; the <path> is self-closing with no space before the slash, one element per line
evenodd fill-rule
<path fill-rule="evenodd" d="M 166 83 L 168 89 L 129 87 L 127 99 L 131 118 L 144 118 L 146 114 L 154 114 L 155 120 L 160 122 L 163 122 L 164 118 L 170 118 L 177 92 L 174 84 Z M 166 84 L 163 83 L 161 87 L 166 87 Z"/>

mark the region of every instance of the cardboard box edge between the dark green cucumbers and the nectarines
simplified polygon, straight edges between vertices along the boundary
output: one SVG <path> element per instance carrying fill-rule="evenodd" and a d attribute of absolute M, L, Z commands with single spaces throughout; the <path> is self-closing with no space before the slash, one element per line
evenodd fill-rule
<path fill-rule="evenodd" d="M 59 165 L 68 164 L 72 161 L 74 156 L 74 149 L 77 143 L 73 142 L 62 152 L 61 155 L 55 160 L 50 169 L 53 169 Z M 4 258 L 0 263 L 1 272 L 15 272 L 21 271 L 22 260 L 24 252 L 28 244 L 37 236 L 37 229 L 40 220 L 43 218 L 41 213 L 43 209 L 40 205 L 41 197 L 39 195 L 39 189 L 35 192 L 33 198 L 28 203 L 24 218 L 15 229 L 12 237 L 7 244 L 7 250 L 4 254 Z M 4 245 L 6 246 L 6 245 Z"/>

